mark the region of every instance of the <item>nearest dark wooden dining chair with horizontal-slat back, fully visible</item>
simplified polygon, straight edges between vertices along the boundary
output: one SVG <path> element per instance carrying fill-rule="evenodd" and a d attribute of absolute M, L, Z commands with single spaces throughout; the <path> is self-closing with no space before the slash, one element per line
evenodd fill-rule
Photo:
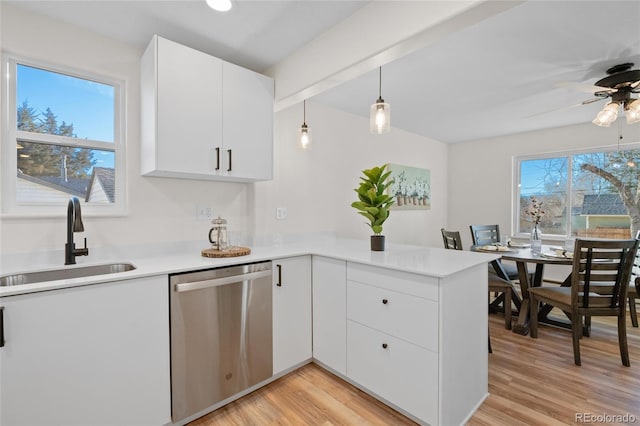
<path fill-rule="evenodd" d="M 580 362 L 580 337 L 583 318 L 618 317 L 618 342 L 622 364 L 629 367 L 627 345 L 626 298 L 638 240 L 577 239 L 574 248 L 571 287 L 535 287 L 529 289 L 531 312 L 529 330 L 538 337 L 538 303 L 543 302 L 571 314 L 573 358 Z M 596 293 L 592 286 L 610 283 L 608 293 Z"/>

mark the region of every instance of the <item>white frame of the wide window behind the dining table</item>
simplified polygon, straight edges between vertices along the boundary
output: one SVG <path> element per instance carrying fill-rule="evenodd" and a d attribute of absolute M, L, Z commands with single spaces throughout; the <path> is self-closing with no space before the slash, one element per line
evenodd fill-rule
<path fill-rule="evenodd" d="M 612 151 L 628 151 L 640 149 L 640 142 L 632 142 L 620 145 L 606 145 L 606 146 L 596 146 L 589 147 L 584 149 L 571 149 L 564 151 L 555 151 L 555 152 L 546 152 L 539 154 L 527 154 L 527 155 L 518 155 L 513 157 L 513 176 L 514 176 L 514 184 L 513 184 L 513 197 L 512 197 L 512 205 L 511 205 L 511 229 L 513 229 L 513 236 L 516 238 L 529 238 L 529 232 L 521 232 L 520 231 L 520 163 L 522 161 L 530 161 L 530 160 L 544 160 L 546 158 L 557 158 L 557 157 L 567 157 L 567 194 L 569 196 L 568 206 L 571 206 L 571 197 L 573 194 L 573 157 L 575 155 L 581 154 L 591 154 L 594 152 L 612 152 Z M 571 209 L 568 209 L 570 211 Z M 565 235 L 559 234 L 545 234 L 544 228 L 542 228 L 542 236 L 545 240 L 557 240 L 564 241 L 567 238 L 574 238 L 571 236 L 571 229 L 573 227 L 572 216 L 571 214 L 567 217 L 567 233 Z"/>

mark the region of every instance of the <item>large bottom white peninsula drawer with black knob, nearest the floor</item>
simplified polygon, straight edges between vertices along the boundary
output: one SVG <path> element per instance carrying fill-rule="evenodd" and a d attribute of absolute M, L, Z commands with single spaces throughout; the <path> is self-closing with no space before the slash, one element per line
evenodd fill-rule
<path fill-rule="evenodd" d="M 437 354 L 353 321 L 347 321 L 347 342 L 349 379 L 422 421 L 438 423 Z"/>

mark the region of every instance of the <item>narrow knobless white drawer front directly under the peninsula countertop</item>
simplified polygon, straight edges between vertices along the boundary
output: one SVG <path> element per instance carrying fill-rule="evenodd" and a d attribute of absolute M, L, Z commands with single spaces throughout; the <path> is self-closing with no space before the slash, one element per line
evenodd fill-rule
<path fill-rule="evenodd" d="M 349 262 L 347 280 L 438 301 L 438 279 L 376 266 Z"/>

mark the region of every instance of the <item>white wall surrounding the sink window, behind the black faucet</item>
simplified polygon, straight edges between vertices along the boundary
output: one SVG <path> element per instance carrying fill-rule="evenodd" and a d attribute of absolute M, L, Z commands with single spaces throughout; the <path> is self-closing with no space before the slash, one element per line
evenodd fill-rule
<path fill-rule="evenodd" d="M 210 223 L 196 220 L 196 205 L 212 206 L 214 213 L 226 217 L 233 229 L 252 232 L 252 215 L 248 211 L 250 185 L 140 176 L 138 61 L 141 49 L 7 4 L 2 5 L 1 23 L 3 51 L 126 82 L 129 213 L 126 217 L 83 218 L 84 236 L 90 250 L 198 239 L 205 248 Z M 2 253 L 62 250 L 66 241 L 65 215 L 66 205 L 56 218 L 3 218 Z M 89 258 L 79 258 L 79 261 L 99 261 Z"/>

